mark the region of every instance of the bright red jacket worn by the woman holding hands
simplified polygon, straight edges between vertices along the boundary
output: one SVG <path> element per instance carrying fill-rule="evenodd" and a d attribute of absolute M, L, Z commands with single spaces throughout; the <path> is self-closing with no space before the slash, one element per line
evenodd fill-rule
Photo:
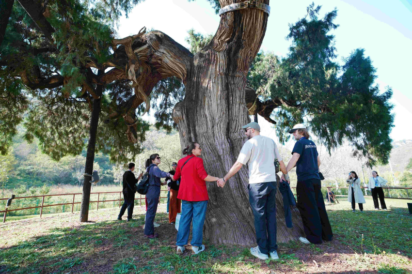
<path fill-rule="evenodd" d="M 190 159 L 185 167 L 183 164 Z M 188 155 L 177 162 L 176 173 L 174 173 L 174 179 L 180 180 L 179 193 L 177 194 L 178 199 L 198 202 L 207 201 L 209 196 L 207 195 L 205 178 L 207 173 L 205 167 L 203 166 L 203 159 L 196 157 L 194 155 Z"/>

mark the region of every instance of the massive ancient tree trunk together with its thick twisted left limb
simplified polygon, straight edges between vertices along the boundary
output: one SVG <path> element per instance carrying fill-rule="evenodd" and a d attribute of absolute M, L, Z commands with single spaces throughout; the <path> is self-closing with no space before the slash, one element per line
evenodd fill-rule
<path fill-rule="evenodd" d="M 269 4 L 269 0 L 261 1 Z M 240 0 L 220 2 L 224 7 Z M 236 162 L 246 141 L 241 130 L 242 125 L 250 122 L 245 102 L 246 76 L 262 44 L 268 16 L 254 8 L 223 14 L 210 44 L 195 56 L 160 31 L 114 41 L 114 45 L 122 46 L 115 47 L 110 61 L 117 67 L 106 75 L 124 78 L 128 75 L 136 96 L 127 102 L 128 107 L 119 106 L 113 111 L 106 122 L 134 112 L 158 80 L 177 76 L 186 86 L 184 101 L 176 104 L 173 111 L 181 146 L 186 147 L 190 141 L 199 142 L 206 171 L 222 177 Z M 251 94 L 248 98 L 255 96 Z M 265 108 L 260 110 L 264 112 Z M 268 121 L 270 112 L 263 113 Z M 132 137 L 129 139 L 134 141 Z M 210 200 L 204 232 L 212 243 L 255 244 L 248 181 L 247 167 L 242 167 L 223 189 L 216 183 L 207 184 Z M 286 228 L 279 191 L 276 197 L 278 242 L 297 240 L 303 235 L 299 212 L 297 209 L 292 212 L 294 228 Z"/>

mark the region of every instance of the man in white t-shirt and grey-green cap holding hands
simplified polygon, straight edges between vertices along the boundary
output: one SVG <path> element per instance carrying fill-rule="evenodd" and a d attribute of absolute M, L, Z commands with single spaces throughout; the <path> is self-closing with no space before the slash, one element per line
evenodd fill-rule
<path fill-rule="evenodd" d="M 251 253 L 259 259 L 279 259 L 276 244 L 276 168 L 275 159 L 280 163 L 280 170 L 289 180 L 285 164 L 279 154 L 275 142 L 269 137 L 260 135 L 260 126 L 256 122 L 242 126 L 248 141 L 240 150 L 238 160 L 229 172 L 219 179 L 218 184 L 224 186 L 240 167 L 249 166 L 249 202 L 254 214 L 257 246 Z"/>

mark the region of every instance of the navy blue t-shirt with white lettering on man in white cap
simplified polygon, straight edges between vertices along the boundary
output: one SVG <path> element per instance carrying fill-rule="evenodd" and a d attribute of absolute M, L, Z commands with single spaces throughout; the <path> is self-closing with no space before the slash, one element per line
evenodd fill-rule
<path fill-rule="evenodd" d="M 293 147 L 293 153 L 299 153 L 298 162 L 296 163 L 296 175 L 298 175 L 298 182 L 319 179 L 319 167 L 317 166 L 317 149 L 313 141 L 306 137 L 301 137 Z"/>

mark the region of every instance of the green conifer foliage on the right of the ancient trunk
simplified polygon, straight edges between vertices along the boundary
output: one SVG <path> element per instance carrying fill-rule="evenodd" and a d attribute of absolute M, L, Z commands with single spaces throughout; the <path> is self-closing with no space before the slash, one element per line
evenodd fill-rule
<path fill-rule="evenodd" d="M 304 122 L 331 150 L 349 140 L 354 156 L 369 166 L 387 163 L 392 149 L 391 88 L 374 85 L 376 69 L 364 49 L 355 49 L 340 66 L 331 30 L 337 11 L 318 18 L 320 6 L 310 5 L 307 15 L 289 26 L 289 53 L 279 59 L 260 53 L 254 60 L 248 84 L 260 95 L 279 127 L 281 142 L 288 129 Z"/>

